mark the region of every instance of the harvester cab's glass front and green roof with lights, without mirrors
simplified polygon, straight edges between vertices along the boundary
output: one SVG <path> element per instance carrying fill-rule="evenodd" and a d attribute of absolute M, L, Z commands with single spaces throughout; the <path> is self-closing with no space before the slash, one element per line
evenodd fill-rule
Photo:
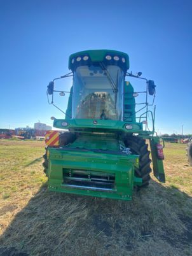
<path fill-rule="evenodd" d="M 96 50 L 97 55 L 93 53 L 95 51 L 79 52 L 69 57 L 69 68 L 74 74 L 72 118 L 123 120 L 128 55 L 109 54 L 106 50 Z"/>

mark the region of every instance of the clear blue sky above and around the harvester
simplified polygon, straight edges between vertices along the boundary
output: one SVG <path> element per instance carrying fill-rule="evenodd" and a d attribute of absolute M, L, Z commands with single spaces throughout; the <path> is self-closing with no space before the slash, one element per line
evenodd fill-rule
<path fill-rule="evenodd" d="M 69 72 L 71 53 L 109 48 L 155 81 L 156 130 L 192 133 L 191 13 L 188 0 L 0 0 L 0 128 L 62 118 L 47 103 L 48 82 Z M 67 97 L 56 102 L 65 111 Z"/>

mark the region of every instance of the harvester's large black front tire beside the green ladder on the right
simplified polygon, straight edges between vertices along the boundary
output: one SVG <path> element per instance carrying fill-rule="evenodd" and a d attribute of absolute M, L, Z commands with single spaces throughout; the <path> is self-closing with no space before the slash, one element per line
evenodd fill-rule
<path fill-rule="evenodd" d="M 138 136 L 128 136 L 125 139 L 125 146 L 130 148 L 132 154 L 139 155 L 139 168 L 135 167 L 135 176 L 142 178 L 142 185 L 139 187 L 146 187 L 149 185 L 149 180 L 151 179 L 150 151 L 147 149 L 146 140 Z"/>

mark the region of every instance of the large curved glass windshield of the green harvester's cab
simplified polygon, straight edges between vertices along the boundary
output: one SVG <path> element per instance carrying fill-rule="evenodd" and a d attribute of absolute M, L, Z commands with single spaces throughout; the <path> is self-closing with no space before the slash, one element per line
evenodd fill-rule
<path fill-rule="evenodd" d="M 78 67 L 72 97 L 72 118 L 122 120 L 123 71 L 112 65 Z"/>

